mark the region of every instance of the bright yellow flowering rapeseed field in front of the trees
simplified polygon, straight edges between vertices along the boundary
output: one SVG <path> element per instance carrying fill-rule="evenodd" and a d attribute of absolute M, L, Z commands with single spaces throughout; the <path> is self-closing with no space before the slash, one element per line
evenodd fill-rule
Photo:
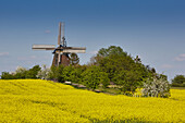
<path fill-rule="evenodd" d="M 110 96 L 39 79 L 0 81 L 0 123 L 185 122 L 185 90 L 171 98 Z"/>

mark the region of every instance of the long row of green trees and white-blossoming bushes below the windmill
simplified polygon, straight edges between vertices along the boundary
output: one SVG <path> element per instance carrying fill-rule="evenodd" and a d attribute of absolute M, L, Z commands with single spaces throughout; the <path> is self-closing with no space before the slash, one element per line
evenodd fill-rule
<path fill-rule="evenodd" d="M 75 56 L 75 57 L 74 57 Z M 73 59 L 74 58 L 74 59 Z M 14 74 L 3 72 L 1 78 L 44 78 L 57 82 L 72 82 L 85 85 L 95 90 L 101 85 L 107 88 L 110 83 L 119 86 L 123 94 L 134 94 L 144 88 L 145 96 L 168 97 L 169 82 L 163 74 L 156 73 L 153 67 L 144 65 L 140 58 L 133 58 L 121 47 L 101 48 L 88 64 L 79 65 L 78 58 L 73 54 L 69 66 L 51 66 L 42 69 L 35 65 L 29 70 L 17 69 Z M 162 88 L 163 87 L 163 88 Z M 149 89 L 145 89 L 149 88 Z M 155 91 L 151 93 L 151 91 Z"/>

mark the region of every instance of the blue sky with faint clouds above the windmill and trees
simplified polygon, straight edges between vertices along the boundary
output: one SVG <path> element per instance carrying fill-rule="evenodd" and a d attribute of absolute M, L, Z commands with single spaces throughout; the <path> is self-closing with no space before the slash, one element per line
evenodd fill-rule
<path fill-rule="evenodd" d="M 158 73 L 185 75 L 184 0 L 0 0 L 0 73 L 52 62 L 52 51 L 32 45 L 55 45 L 65 22 L 67 46 L 86 47 L 88 63 L 100 48 L 120 46 Z"/>

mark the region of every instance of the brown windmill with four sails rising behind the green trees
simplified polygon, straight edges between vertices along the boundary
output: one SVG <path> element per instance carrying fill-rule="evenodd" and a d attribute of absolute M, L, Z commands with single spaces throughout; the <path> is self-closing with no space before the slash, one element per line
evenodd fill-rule
<path fill-rule="evenodd" d="M 61 27 L 62 27 L 62 39 L 61 39 Z M 64 37 L 64 23 L 59 23 L 59 36 L 58 36 L 58 47 L 54 45 L 33 45 L 34 50 L 53 50 L 52 65 L 59 66 L 60 64 L 70 64 L 70 53 L 85 53 L 86 48 L 79 47 L 66 47 L 66 41 Z"/>

